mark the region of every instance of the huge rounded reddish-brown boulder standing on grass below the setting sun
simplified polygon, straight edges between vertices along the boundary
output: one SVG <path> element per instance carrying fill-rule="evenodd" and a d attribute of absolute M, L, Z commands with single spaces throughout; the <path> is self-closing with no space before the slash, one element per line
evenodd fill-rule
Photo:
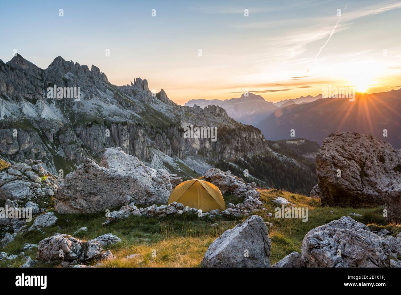
<path fill-rule="evenodd" d="M 400 177 L 400 170 L 401 150 L 366 134 L 330 133 L 316 154 L 324 205 L 382 205 L 385 188 Z"/>

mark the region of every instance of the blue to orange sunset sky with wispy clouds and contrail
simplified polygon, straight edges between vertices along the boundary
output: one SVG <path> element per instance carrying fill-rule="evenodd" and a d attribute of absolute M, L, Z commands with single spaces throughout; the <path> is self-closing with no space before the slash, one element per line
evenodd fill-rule
<path fill-rule="evenodd" d="M 13 49 L 43 69 L 62 56 L 179 104 L 401 87 L 400 1 L 7 1 L 0 16 L 4 62 Z"/>

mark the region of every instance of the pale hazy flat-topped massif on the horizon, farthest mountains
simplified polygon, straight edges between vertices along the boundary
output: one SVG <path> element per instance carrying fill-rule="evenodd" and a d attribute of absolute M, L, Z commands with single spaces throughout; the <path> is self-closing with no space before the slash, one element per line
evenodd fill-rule
<path fill-rule="evenodd" d="M 204 108 L 209 105 L 218 105 L 223 107 L 227 111 L 227 114 L 236 121 L 256 126 L 259 121 L 271 115 L 279 107 L 285 107 L 294 103 L 309 103 L 321 97 L 321 94 L 317 96 L 308 95 L 307 97 L 301 96 L 273 103 L 266 101 L 260 95 L 243 93 L 241 97 L 226 100 L 191 99 L 185 103 L 185 106 L 193 107 L 194 105 L 198 105 L 199 107 Z"/>

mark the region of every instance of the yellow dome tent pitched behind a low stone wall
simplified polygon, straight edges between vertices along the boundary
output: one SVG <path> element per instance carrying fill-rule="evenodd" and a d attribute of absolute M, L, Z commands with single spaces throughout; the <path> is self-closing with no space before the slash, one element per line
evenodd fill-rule
<path fill-rule="evenodd" d="M 219 188 L 206 180 L 199 179 L 191 179 L 178 184 L 168 198 L 168 204 L 173 202 L 201 209 L 203 212 L 226 209 Z"/>

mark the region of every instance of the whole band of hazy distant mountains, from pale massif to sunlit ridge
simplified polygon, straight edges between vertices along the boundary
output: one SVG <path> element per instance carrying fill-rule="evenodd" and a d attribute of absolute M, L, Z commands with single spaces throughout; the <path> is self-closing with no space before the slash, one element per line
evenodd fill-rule
<path fill-rule="evenodd" d="M 301 96 L 279 102 L 265 101 L 249 93 L 239 98 L 192 99 L 185 105 L 219 105 L 241 123 L 260 129 L 268 140 L 302 137 L 322 143 L 331 132 L 354 131 L 371 134 L 401 147 L 401 89 L 381 93 L 357 93 L 348 98 L 322 98 L 322 95 Z M 387 136 L 383 133 L 387 130 Z"/>

